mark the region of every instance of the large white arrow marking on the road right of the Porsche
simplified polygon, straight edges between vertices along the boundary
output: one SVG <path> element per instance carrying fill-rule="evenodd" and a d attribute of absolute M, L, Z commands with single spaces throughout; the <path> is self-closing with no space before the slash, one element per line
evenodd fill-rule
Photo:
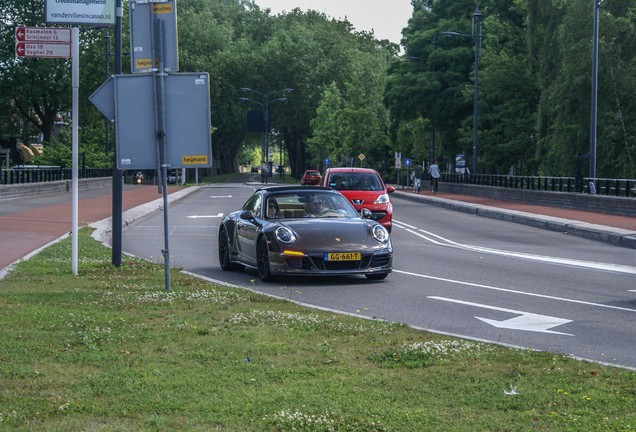
<path fill-rule="evenodd" d="M 552 327 L 556 327 L 561 324 L 567 324 L 569 322 L 572 322 L 572 320 L 566 320 L 563 318 L 556 318 L 556 317 L 551 317 L 547 315 L 539 315 L 539 314 L 534 314 L 530 312 L 517 311 L 514 309 L 505 309 L 505 308 L 500 308 L 497 306 L 489 306 L 489 305 L 484 305 L 479 303 L 465 302 L 462 300 L 449 299 L 446 297 L 429 296 L 428 298 L 519 315 L 517 317 L 510 318 L 503 321 L 497 321 L 497 320 L 488 319 L 488 318 L 481 318 L 477 316 L 475 317 L 478 320 L 481 320 L 497 328 L 533 331 L 538 333 L 552 333 L 552 334 L 560 334 L 564 336 L 574 336 L 570 333 L 561 333 L 561 332 L 550 330 Z"/>

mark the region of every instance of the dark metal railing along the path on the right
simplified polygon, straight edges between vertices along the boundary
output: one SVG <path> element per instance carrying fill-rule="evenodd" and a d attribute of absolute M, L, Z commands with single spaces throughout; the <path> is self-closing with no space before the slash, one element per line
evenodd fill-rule
<path fill-rule="evenodd" d="M 446 183 L 463 183 L 509 189 L 546 192 L 594 193 L 597 195 L 636 197 L 636 180 L 583 177 L 507 176 L 496 174 L 442 174 Z"/>

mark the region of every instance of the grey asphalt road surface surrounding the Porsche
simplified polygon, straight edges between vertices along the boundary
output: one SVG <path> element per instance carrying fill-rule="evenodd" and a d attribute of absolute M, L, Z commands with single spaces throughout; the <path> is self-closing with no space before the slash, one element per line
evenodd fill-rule
<path fill-rule="evenodd" d="M 636 369 L 636 250 L 393 198 L 394 271 L 383 281 L 262 283 L 218 266 L 216 232 L 253 187 L 203 187 L 124 229 L 126 252 L 334 311 Z"/>

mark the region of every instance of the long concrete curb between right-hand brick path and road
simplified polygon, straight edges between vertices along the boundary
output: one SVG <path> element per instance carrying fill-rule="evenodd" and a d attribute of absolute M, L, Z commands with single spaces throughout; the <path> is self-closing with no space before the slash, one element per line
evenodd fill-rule
<path fill-rule="evenodd" d="M 605 225 L 595 225 L 571 219 L 542 216 L 534 213 L 508 210 L 498 207 L 453 201 L 446 198 L 415 195 L 397 190 L 391 194 L 391 196 L 394 198 L 435 205 L 462 213 L 473 214 L 475 216 L 561 232 L 588 240 L 608 243 L 613 246 L 636 249 L 636 231 L 608 227 Z"/>

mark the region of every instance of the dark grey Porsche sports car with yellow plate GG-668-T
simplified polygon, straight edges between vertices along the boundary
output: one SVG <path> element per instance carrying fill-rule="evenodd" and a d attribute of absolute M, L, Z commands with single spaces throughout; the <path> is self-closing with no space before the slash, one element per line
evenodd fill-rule
<path fill-rule="evenodd" d="M 258 189 L 219 227 L 223 270 L 258 270 L 277 276 L 365 275 L 384 279 L 392 270 L 388 231 L 362 215 L 338 191 L 320 186 Z"/>

